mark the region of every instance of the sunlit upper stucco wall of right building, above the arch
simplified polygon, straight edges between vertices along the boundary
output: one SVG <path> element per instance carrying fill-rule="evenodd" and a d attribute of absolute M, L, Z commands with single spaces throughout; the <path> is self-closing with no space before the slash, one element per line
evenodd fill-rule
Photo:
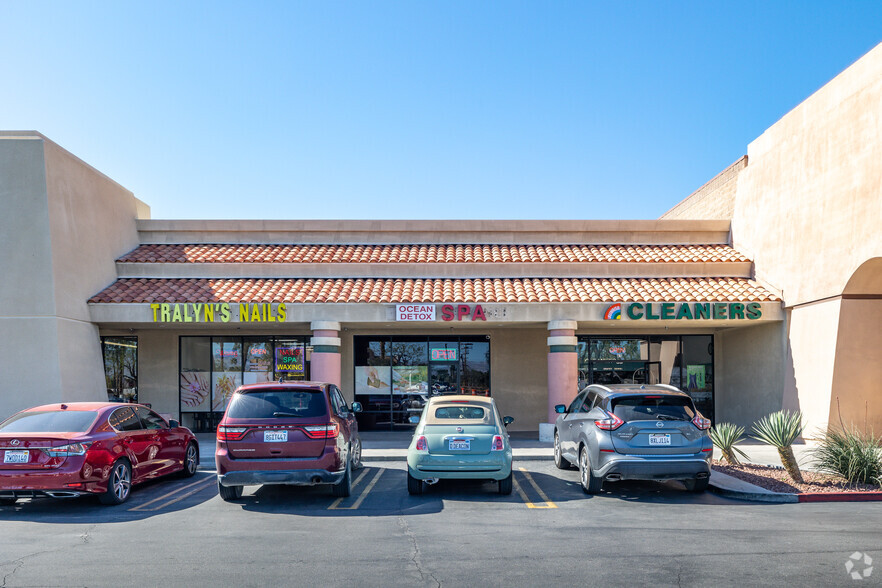
<path fill-rule="evenodd" d="M 841 294 L 882 255 L 882 45 L 747 149 L 732 237 L 788 306 Z M 807 271 L 811 268 L 811 271 Z"/>

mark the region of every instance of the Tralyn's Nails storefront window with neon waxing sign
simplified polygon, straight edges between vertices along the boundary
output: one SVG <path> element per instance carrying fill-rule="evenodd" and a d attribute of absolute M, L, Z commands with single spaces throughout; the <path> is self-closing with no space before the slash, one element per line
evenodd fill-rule
<path fill-rule="evenodd" d="M 306 337 L 181 337 L 184 424 L 210 431 L 242 384 L 309 378 Z"/>

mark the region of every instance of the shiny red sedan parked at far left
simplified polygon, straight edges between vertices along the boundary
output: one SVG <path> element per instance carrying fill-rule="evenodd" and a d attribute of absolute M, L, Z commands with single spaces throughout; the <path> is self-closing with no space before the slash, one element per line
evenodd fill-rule
<path fill-rule="evenodd" d="M 190 429 L 139 404 L 47 404 L 0 423 L 0 504 L 86 494 L 121 504 L 133 484 L 198 465 Z"/>

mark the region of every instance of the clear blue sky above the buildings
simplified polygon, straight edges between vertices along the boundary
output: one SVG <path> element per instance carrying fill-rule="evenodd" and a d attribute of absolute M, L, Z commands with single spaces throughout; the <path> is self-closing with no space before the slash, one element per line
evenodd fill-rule
<path fill-rule="evenodd" d="M 882 2 L 0 2 L 0 128 L 153 218 L 657 218 Z"/>

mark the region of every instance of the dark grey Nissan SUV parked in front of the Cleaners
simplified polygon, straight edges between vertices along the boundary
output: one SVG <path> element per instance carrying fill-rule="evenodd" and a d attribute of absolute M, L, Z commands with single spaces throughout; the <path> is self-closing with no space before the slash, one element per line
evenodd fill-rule
<path fill-rule="evenodd" d="M 554 409 L 554 464 L 577 466 L 588 494 L 619 480 L 683 480 L 694 492 L 707 489 L 711 423 L 677 388 L 592 384 Z"/>

